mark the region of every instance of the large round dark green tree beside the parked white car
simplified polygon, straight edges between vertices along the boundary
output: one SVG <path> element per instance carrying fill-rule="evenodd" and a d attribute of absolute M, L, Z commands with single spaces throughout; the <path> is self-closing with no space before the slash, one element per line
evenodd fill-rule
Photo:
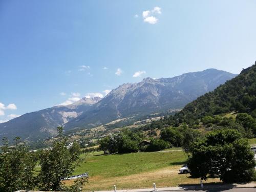
<path fill-rule="evenodd" d="M 188 167 L 193 177 L 207 179 L 219 175 L 223 182 L 250 181 L 253 173 L 254 154 L 250 145 L 237 130 L 219 129 L 190 147 Z"/>

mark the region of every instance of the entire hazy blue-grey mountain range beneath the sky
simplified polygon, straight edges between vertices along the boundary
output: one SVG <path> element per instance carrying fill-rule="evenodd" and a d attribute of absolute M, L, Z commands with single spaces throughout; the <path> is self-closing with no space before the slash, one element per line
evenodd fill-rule
<path fill-rule="evenodd" d="M 207 69 L 173 78 L 144 78 L 125 83 L 104 98 L 82 98 L 71 105 L 27 113 L 0 124 L 1 137 L 44 139 L 56 134 L 57 126 L 65 130 L 89 129 L 120 118 L 139 117 L 181 109 L 197 97 L 236 77 L 225 71 Z"/>

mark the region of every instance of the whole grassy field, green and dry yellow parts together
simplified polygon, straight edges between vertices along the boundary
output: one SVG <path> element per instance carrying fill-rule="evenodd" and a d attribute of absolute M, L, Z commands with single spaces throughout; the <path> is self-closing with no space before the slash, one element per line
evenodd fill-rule
<path fill-rule="evenodd" d="M 121 155 L 96 152 L 88 154 L 86 162 L 75 169 L 74 175 L 89 172 L 89 183 L 84 187 L 86 191 L 111 190 L 113 185 L 117 189 L 131 189 L 152 188 L 153 183 L 157 187 L 198 184 L 199 179 L 178 174 L 186 158 L 183 151 Z M 66 181 L 67 184 L 72 182 Z M 219 182 L 219 179 L 208 179 L 207 182 Z"/>

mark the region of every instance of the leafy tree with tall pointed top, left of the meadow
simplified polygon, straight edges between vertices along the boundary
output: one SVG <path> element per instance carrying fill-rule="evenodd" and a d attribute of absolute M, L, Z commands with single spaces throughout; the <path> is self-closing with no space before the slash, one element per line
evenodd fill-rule
<path fill-rule="evenodd" d="M 70 177 L 74 168 L 82 161 L 79 159 L 78 143 L 68 148 L 67 138 L 63 137 L 63 128 L 57 127 L 57 131 L 58 140 L 54 142 L 52 149 L 49 148 L 40 154 L 38 188 L 41 190 L 58 191 L 65 188 L 61 181 Z"/>

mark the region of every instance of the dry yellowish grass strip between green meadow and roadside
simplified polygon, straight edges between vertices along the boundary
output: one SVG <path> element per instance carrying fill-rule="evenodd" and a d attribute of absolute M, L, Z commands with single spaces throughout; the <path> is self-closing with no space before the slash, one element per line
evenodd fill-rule
<path fill-rule="evenodd" d="M 190 178 L 189 174 L 178 174 L 180 166 L 171 166 L 157 169 L 151 172 L 133 174 L 122 177 L 104 178 L 94 176 L 89 179 L 89 182 L 84 186 L 84 191 L 94 190 L 110 190 L 113 185 L 117 189 L 132 189 L 132 188 L 151 188 L 153 183 L 158 187 L 177 186 L 178 184 L 198 184 L 199 179 Z M 208 179 L 207 182 L 219 182 L 218 178 Z M 67 184 L 73 181 L 67 181 Z"/>

